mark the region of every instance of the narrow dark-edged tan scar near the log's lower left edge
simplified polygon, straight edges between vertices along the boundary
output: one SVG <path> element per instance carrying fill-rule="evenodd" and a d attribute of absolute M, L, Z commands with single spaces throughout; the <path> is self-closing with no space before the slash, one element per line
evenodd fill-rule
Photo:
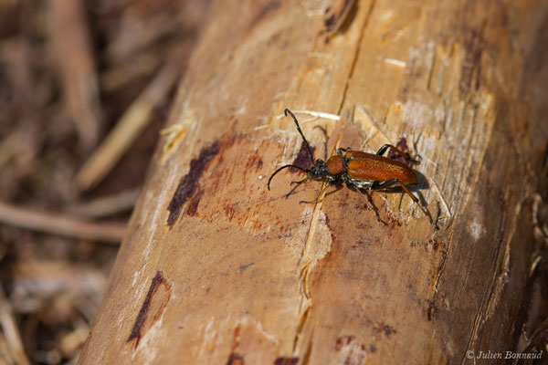
<path fill-rule="evenodd" d="M 158 270 L 153 277 L 153 282 L 144 298 L 144 302 L 142 302 L 139 314 L 135 318 L 132 333 L 127 339 L 127 342 L 135 340 L 135 349 L 139 346 L 139 341 L 148 328 L 151 328 L 153 323 L 160 318 L 170 297 L 171 285 L 163 277 L 162 271 Z"/>

